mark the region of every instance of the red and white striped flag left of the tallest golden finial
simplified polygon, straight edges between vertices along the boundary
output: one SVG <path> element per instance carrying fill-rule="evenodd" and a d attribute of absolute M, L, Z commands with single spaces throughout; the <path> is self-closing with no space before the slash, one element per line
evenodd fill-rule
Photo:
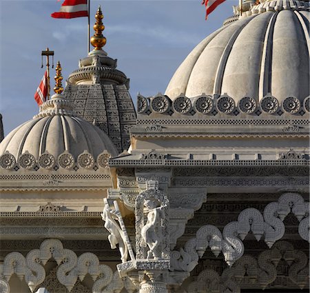
<path fill-rule="evenodd" d="M 55 19 L 88 17 L 87 0 L 65 0 L 59 12 L 54 12 L 50 16 Z"/>

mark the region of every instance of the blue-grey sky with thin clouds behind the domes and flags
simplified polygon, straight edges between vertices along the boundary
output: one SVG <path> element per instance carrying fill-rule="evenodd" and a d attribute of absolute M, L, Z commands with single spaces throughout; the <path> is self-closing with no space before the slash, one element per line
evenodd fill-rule
<path fill-rule="evenodd" d="M 61 61 L 63 77 L 87 55 L 87 18 L 52 19 L 56 0 L 0 0 L 0 113 L 8 134 L 38 112 L 34 92 L 43 77 L 41 50 Z M 165 92 L 178 65 L 202 39 L 231 16 L 227 0 L 205 21 L 200 0 L 91 0 L 91 25 L 99 5 L 107 38 L 105 51 L 130 78 L 130 94 Z M 92 35 L 92 31 L 91 31 Z M 51 70 L 51 77 L 54 77 Z M 52 81 L 52 79 L 51 79 Z M 53 85 L 53 81 L 52 81 Z"/>

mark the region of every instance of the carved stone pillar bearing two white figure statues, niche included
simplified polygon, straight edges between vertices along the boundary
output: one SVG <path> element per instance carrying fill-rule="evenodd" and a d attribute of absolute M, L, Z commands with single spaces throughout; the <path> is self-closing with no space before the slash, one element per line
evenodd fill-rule
<path fill-rule="evenodd" d="M 169 200 L 159 190 L 158 181 L 146 181 L 145 185 L 146 190 L 136 196 L 134 204 L 136 255 L 131 248 L 116 201 L 113 210 L 105 200 L 103 218 L 105 227 L 111 233 L 111 247 L 115 248 L 118 243 L 123 251 L 129 252 L 122 253 L 122 263 L 117 265 L 121 277 L 129 276 L 139 288 L 139 293 L 167 293 L 170 267 Z M 115 220 L 119 225 L 116 225 Z M 127 261 L 128 256 L 130 261 Z"/>

